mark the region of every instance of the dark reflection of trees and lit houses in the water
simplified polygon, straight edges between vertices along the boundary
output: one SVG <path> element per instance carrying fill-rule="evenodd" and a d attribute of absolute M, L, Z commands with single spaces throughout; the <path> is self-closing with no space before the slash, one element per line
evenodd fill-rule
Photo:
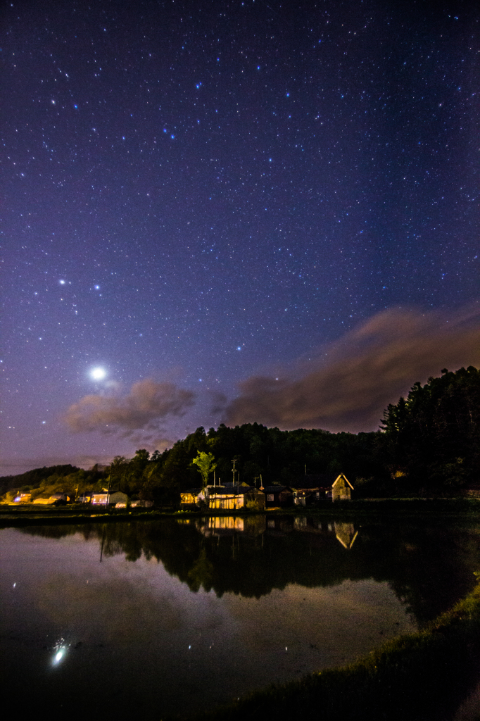
<path fill-rule="evenodd" d="M 300 516 L 218 516 L 175 521 L 31 526 L 24 533 L 103 540 L 103 556 L 143 554 L 161 562 L 192 591 L 259 598 L 289 583 L 309 588 L 345 579 L 388 581 L 423 624 L 474 584 L 479 530 L 420 519 L 369 522 Z"/>

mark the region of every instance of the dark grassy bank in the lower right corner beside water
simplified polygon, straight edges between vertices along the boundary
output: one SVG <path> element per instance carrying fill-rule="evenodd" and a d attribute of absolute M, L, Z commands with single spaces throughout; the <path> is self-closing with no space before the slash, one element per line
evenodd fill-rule
<path fill-rule="evenodd" d="M 308 622 L 308 619 L 306 619 Z M 427 629 L 366 658 L 270 686 L 197 721 L 445 721 L 480 672 L 480 584 Z"/>

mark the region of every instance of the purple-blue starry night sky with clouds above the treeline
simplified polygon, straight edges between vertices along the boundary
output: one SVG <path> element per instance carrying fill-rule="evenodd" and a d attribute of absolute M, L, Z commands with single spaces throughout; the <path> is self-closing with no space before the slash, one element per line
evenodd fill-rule
<path fill-rule="evenodd" d="M 0 472 L 222 421 L 374 430 L 479 366 L 479 19 L 3 4 Z"/>

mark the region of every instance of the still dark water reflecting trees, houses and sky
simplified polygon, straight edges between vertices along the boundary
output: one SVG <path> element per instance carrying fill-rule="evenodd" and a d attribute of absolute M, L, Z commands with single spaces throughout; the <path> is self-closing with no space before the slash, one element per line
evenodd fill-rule
<path fill-rule="evenodd" d="M 473 587 L 479 535 L 298 516 L 6 528 L 4 687 L 35 714 L 210 709 L 422 627 Z"/>

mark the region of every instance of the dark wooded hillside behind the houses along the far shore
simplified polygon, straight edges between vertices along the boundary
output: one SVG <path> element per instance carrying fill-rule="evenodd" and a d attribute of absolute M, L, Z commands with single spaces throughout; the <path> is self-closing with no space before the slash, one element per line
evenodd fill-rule
<path fill-rule="evenodd" d="M 116 456 L 103 472 L 74 466 L 37 469 L 0 479 L 0 492 L 78 489 L 123 490 L 130 497 L 177 505 L 179 493 L 202 485 L 198 451 L 213 454 L 216 482 L 234 479 L 247 485 L 301 485 L 305 474 L 343 472 L 358 497 L 455 492 L 478 482 L 480 461 L 480 372 L 469 366 L 442 371 L 406 399 L 388 406 L 382 429 L 373 433 L 279 430 L 257 423 L 235 428 L 200 427 L 172 448 L 133 459 Z M 213 474 L 210 478 L 213 482 Z"/>

